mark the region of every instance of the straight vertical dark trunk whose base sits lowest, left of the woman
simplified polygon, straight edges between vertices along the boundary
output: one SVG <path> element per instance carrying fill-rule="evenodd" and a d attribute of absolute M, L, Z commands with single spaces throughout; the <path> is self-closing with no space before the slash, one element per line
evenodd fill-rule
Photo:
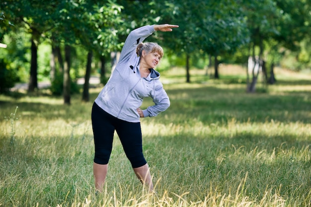
<path fill-rule="evenodd" d="M 64 65 L 64 82 L 63 82 L 63 96 L 64 104 L 70 104 L 70 67 L 71 67 L 71 47 L 69 45 L 65 46 L 65 65 Z"/>

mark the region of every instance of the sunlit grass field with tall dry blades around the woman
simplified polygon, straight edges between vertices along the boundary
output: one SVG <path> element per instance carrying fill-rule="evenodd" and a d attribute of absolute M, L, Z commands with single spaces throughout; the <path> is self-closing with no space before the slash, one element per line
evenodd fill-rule
<path fill-rule="evenodd" d="M 276 70 L 245 92 L 244 72 L 162 74 L 170 108 L 142 119 L 156 195 L 114 139 L 105 192 L 95 196 L 91 102 L 0 95 L 0 207 L 310 207 L 311 73 Z M 152 104 L 144 101 L 142 108 Z M 16 108 L 18 106 L 18 108 Z"/>

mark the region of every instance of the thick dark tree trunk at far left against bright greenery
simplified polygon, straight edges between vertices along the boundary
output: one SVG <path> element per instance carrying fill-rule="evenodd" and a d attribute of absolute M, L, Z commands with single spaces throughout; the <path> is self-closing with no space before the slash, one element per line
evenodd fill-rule
<path fill-rule="evenodd" d="M 28 84 L 28 92 L 34 92 L 35 88 L 38 88 L 37 70 L 38 70 L 38 48 L 31 38 L 31 64 L 30 64 L 30 77 Z"/>

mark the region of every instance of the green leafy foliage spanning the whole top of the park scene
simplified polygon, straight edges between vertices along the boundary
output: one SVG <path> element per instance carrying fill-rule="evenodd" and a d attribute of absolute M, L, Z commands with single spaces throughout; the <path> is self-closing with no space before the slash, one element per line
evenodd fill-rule
<path fill-rule="evenodd" d="M 134 28 L 172 23 L 180 27 L 173 33 L 156 32 L 149 39 L 170 50 L 169 56 L 173 54 L 162 61 L 160 70 L 185 66 L 186 54 L 193 68 L 204 68 L 207 61 L 197 58 L 202 51 L 224 63 L 245 64 L 248 43 L 256 47 L 263 43 L 267 66 L 306 69 L 311 68 L 310 8 L 306 0 L 4 0 L 0 2 L 0 42 L 9 43 L 9 52 L 0 58 L 21 81 L 28 82 L 32 37 L 40 50 L 38 79 L 46 80 L 50 70 L 46 45 L 70 44 L 77 49 L 72 65 L 77 77 L 85 73 L 82 50 L 92 49 L 94 57 L 107 55 L 120 51 Z M 280 57 L 284 48 L 292 54 Z"/>

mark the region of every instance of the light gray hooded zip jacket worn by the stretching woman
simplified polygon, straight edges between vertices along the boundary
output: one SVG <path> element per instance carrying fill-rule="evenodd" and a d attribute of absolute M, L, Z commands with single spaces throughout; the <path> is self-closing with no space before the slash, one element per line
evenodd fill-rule
<path fill-rule="evenodd" d="M 95 99 L 100 108 L 118 119 L 140 122 L 137 108 L 140 108 L 145 97 L 152 97 L 155 103 L 143 110 L 145 117 L 157 116 L 169 107 L 169 98 L 159 81 L 160 73 L 151 69 L 151 73 L 145 78 L 139 72 L 137 45 L 154 32 L 154 26 L 147 25 L 128 35 L 116 68 Z"/>

